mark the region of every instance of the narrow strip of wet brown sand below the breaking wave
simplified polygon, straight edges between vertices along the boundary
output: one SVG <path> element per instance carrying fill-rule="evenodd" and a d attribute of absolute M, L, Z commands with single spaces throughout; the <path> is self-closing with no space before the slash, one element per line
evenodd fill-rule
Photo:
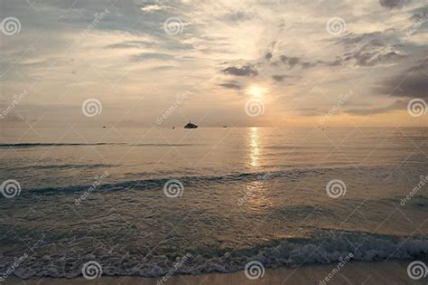
<path fill-rule="evenodd" d="M 62 285 L 62 284 L 107 284 L 107 285 L 163 285 L 163 284 L 426 284 L 428 276 L 420 280 L 412 280 L 407 274 L 407 266 L 416 260 L 390 260 L 390 261 L 349 261 L 338 268 L 339 262 L 330 264 L 305 264 L 298 268 L 275 268 L 265 270 L 263 278 L 249 280 L 244 271 L 230 273 L 208 273 L 201 275 L 174 275 L 165 282 L 160 278 L 146 278 L 138 276 L 100 277 L 96 280 L 77 279 L 29 279 L 21 280 L 11 277 L 5 284 L 27 285 Z M 421 258 L 428 264 L 428 258 Z M 325 282 L 329 274 L 332 278 Z M 331 275 L 330 275 L 331 276 Z"/>

